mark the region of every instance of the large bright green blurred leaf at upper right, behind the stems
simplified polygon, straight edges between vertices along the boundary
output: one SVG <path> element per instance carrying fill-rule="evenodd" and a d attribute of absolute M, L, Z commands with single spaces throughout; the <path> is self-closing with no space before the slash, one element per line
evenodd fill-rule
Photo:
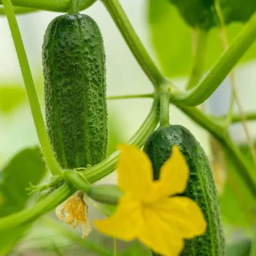
<path fill-rule="evenodd" d="M 192 30 L 182 19 L 169 0 L 149 1 L 149 26 L 158 61 L 163 73 L 168 77 L 187 76 L 192 65 Z M 256 2 L 256 1 L 255 1 Z M 235 5 L 235 8 L 238 6 Z M 238 8 L 239 9 L 239 8 Z M 243 24 L 227 26 L 227 36 L 231 42 L 242 29 Z M 221 39 L 217 28 L 208 35 L 205 70 L 212 67 L 222 52 Z M 241 62 L 255 59 L 256 43 L 244 54 Z"/>

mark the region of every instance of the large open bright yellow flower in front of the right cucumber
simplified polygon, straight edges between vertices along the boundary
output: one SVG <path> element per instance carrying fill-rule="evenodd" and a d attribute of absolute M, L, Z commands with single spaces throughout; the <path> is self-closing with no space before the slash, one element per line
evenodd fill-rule
<path fill-rule="evenodd" d="M 185 158 L 177 146 L 153 180 L 151 161 L 135 146 L 119 146 L 116 212 L 108 219 L 94 221 L 105 235 L 130 241 L 138 238 L 158 254 L 179 255 L 183 239 L 202 235 L 206 222 L 201 209 L 188 197 L 174 196 L 187 187 L 189 176 Z M 172 196 L 172 197 L 170 197 Z"/>

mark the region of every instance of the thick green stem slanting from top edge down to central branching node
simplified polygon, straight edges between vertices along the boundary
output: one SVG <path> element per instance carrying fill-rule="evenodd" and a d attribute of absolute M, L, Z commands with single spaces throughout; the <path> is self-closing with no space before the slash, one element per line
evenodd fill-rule
<path fill-rule="evenodd" d="M 148 52 L 144 48 L 140 41 L 140 38 L 136 34 L 135 30 L 130 24 L 126 13 L 124 12 L 121 4 L 118 0 L 101 0 L 108 12 L 115 21 L 116 26 L 126 40 L 127 45 L 132 51 L 135 59 L 143 69 L 146 76 L 151 80 L 154 87 L 158 87 L 160 84 L 165 82 L 165 77 L 160 73 L 158 68 L 155 66 Z"/>

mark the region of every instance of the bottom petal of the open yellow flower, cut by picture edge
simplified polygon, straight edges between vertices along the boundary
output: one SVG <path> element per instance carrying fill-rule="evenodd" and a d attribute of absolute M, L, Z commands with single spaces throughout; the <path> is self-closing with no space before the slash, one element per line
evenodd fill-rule
<path fill-rule="evenodd" d="M 138 239 L 154 252 L 165 256 L 177 256 L 183 249 L 183 239 L 179 232 L 172 230 L 156 212 L 150 208 L 143 210 L 144 224 Z"/>

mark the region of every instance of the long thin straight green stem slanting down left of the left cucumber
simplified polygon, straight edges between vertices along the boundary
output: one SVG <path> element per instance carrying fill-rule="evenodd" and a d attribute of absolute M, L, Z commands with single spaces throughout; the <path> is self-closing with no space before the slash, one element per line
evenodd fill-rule
<path fill-rule="evenodd" d="M 51 144 L 49 143 L 48 134 L 44 126 L 43 116 L 41 114 L 40 105 L 37 98 L 37 92 L 35 91 L 34 81 L 27 61 L 26 52 L 24 49 L 23 41 L 21 39 L 20 30 L 13 12 L 12 3 L 10 0 L 3 0 L 5 13 L 9 22 L 10 30 L 12 32 L 13 42 L 20 62 L 21 73 L 23 75 L 24 84 L 27 91 L 27 97 L 29 98 L 29 104 L 32 111 L 32 116 L 37 129 L 38 140 L 41 145 L 43 157 L 52 175 L 62 175 L 57 160 L 54 157 Z"/>

